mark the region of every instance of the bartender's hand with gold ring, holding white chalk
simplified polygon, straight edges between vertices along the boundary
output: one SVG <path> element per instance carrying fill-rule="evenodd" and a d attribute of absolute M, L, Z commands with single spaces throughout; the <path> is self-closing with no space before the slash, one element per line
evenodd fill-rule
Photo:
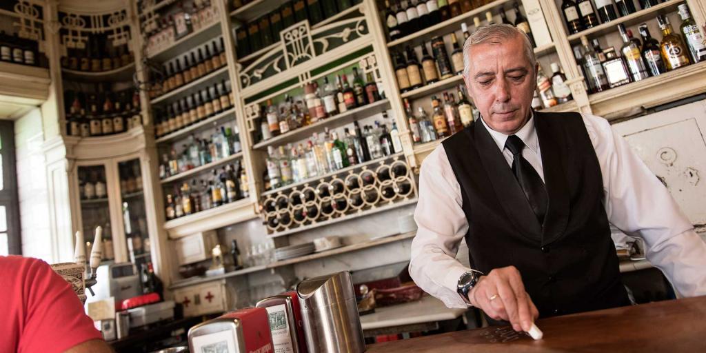
<path fill-rule="evenodd" d="M 496 268 L 481 276 L 468 299 L 493 320 L 510 321 L 515 331 L 529 331 L 539 317 L 515 266 Z"/>

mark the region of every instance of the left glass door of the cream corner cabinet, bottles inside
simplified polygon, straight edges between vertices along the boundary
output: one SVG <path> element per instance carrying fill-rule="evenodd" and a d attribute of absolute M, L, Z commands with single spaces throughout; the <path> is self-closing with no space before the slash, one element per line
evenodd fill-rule
<path fill-rule="evenodd" d="M 86 255 L 90 254 L 95 228 L 101 226 L 103 227 L 103 261 L 113 261 L 115 253 L 105 166 L 79 166 L 78 189 L 81 203 L 81 229 L 87 246 Z"/>

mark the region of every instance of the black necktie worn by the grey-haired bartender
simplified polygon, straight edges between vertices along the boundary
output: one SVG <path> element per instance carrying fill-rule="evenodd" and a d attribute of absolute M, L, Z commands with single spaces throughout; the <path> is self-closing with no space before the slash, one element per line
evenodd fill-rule
<path fill-rule="evenodd" d="M 532 164 L 522 157 L 522 149 L 525 148 L 525 143 L 515 135 L 508 136 L 505 141 L 505 148 L 513 152 L 513 173 L 517 182 L 520 183 L 522 191 L 525 191 L 525 197 L 537 215 L 539 224 L 544 223 L 544 215 L 546 215 L 546 205 L 549 203 L 549 198 L 546 196 L 544 182 L 534 170 Z"/>

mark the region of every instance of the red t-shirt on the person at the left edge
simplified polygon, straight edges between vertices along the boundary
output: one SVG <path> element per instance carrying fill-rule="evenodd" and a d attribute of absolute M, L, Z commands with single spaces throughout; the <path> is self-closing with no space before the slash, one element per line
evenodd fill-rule
<path fill-rule="evenodd" d="M 0 352 L 64 352 L 97 338 L 78 296 L 47 263 L 0 256 Z"/>

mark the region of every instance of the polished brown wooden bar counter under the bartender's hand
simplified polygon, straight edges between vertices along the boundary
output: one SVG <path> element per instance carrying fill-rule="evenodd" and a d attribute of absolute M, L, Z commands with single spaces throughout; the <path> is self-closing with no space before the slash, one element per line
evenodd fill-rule
<path fill-rule="evenodd" d="M 498 326 L 383 342 L 366 352 L 706 352 L 706 296 L 546 318 L 537 326 L 543 340 Z"/>

